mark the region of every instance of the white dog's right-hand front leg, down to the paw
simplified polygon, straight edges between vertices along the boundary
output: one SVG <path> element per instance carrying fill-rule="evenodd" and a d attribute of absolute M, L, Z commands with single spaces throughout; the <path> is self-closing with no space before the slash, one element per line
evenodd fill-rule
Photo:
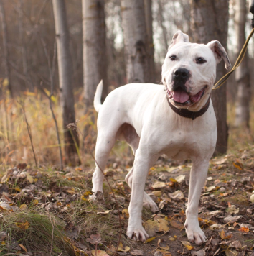
<path fill-rule="evenodd" d="M 209 160 L 195 159 L 192 160 L 192 170 L 189 180 L 189 198 L 186 210 L 186 221 L 184 227 L 190 242 L 201 244 L 205 242 L 206 237 L 199 227 L 198 206 L 199 198 L 207 178 Z"/>

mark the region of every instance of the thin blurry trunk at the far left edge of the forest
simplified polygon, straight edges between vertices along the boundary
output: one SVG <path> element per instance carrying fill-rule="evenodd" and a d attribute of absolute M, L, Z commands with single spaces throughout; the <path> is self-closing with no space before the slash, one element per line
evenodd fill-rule
<path fill-rule="evenodd" d="M 10 74 L 11 69 L 9 65 L 8 33 L 7 33 L 7 27 L 6 27 L 4 4 L 2 0 L 0 0 L 0 16 L 1 16 L 1 27 L 3 32 L 5 76 L 9 81 L 8 89 L 9 89 L 10 95 L 11 97 L 13 97 L 13 88 L 12 88 L 11 74 Z"/>

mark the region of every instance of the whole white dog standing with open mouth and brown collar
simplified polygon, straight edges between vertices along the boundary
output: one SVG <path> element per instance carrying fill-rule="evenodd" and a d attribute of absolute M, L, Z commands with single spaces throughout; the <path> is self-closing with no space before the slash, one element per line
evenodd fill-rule
<path fill-rule="evenodd" d="M 190 242 L 205 241 L 197 215 L 200 193 L 217 140 L 210 93 L 216 65 L 221 59 L 230 69 L 230 60 L 220 42 L 190 43 L 189 37 L 178 31 L 162 66 L 164 86 L 131 83 L 112 91 L 102 105 L 103 84 L 98 85 L 94 100 L 99 114 L 93 192 L 103 191 L 102 170 L 114 143 L 126 140 L 135 155 L 133 168 L 126 176 L 132 190 L 128 208 L 129 238 L 141 241 L 149 238 L 142 227 L 142 202 L 151 211 L 158 211 L 158 207 L 144 192 L 146 176 L 158 157 L 166 155 L 174 160 L 192 160 L 184 227 Z"/>

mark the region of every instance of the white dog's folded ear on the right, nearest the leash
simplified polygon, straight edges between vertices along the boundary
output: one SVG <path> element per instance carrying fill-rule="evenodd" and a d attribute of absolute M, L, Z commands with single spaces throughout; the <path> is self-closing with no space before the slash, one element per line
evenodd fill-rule
<path fill-rule="evenodd" d="M 225 51 L 222 44 L 219 41 L 215 40 L 215 41 L 208 42 L 207 46 L 210 47 L 213 54 L 215 55 L 216 64 L 220 63 L 220 61 L 223 59 L 225 62 L 225 68 L 227 70 L 230 70 L 231 69 L 230 59 L 228 58 L 227 52 Z"/>

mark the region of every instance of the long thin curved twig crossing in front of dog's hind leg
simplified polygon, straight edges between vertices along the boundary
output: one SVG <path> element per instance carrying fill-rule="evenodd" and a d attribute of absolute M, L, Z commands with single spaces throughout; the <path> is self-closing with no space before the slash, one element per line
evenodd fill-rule
<path fill-rule="evenodd" d="M 86 138 L 84 137 L 83 133 L 80 131 L 80 128 L 77 126 L 77 122 L 78 122 L 78 120 L 76 120 L 75 123 L 68 124 L 69 129 L 71 128 L 72 130 L 76 131 L 77 133 L 79 132 L 79 133 L 81 134 L 81 136 L 83 137 L 83 140 L 84 140 L 84 147 L 85 147 L 85 146 L 88 146 L 88 151 L 89 151 L 91 157 L 93 157 L 93 160 L 95 160 L 96 165 L 98 166 L 98 168 L 100 169 L 100 171 L 103 173 L 103 170 L 100 168 L 100 165 L 98 165 L 98 162 L 97 162 L 97 160 L 95 159 L 95 156 L 93 155 L 93 153 L 92 153 L 91 150 L 90 150 L 89 144 L 88 144 L 88 142 L 87 142 L 88 137 L 86 137 Z M 103 173 L 103 175 L 104 175 L 104 173 Z M 114 191 L 113 191 L 112 186 L 110 185 L 110 183 L 109 183 L 109 181 L 108 181 L 108 178 L 107 178 L 105 175 L 104 175 L 104 178 L 105 178 L 106 182 L 108 183 L 108 186 L 109 186 L 109 188 L 110 188 L 110 191 L 111 191 L 112 194 L 113 194 L 113 198 L 114 198 L 115 201 L 116 201 L 116 208 L 117 208 L 117 210 L 118 210 L 118 220 L 119 220 L 120 231 L 119 231 L 118 243 L 117 243 L 117 245 L 116 245 L 116 250 L 115 250 L 115 252 L 114 252 L 114 254 L 113 254 L 113 256 L 115 256 L 116 253 L 117 253 L 119 244 L 120 244 L 120 240 L 121 240 L 121 235 L 122 235 L 122 221 L 121 221 L 121 216 L 120 216 L 119 204 L 118 204 L 118 201 L 116 200 L 116 195 L 115 195 L 115 193 L 114 193 Z M 97 252 L 97 250 L 96 250 L 96 247 L 95 247 L 95 253 L 96 253 L 96 252 Z"/>

